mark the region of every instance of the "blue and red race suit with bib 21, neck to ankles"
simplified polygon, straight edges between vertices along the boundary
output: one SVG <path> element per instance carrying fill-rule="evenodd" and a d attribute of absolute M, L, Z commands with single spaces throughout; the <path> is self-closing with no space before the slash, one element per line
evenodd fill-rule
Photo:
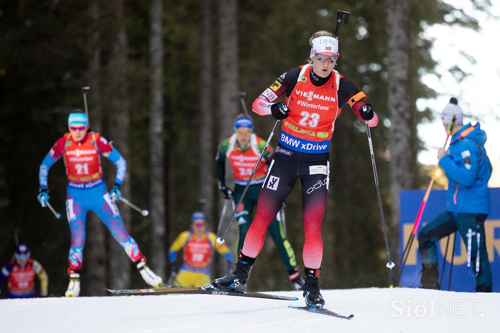
<path fill-rule="evenodd" d="M 99 133 L 87 132 L 79 142 L 75 142 L 69 133 L 64 134 L 40 164 L 40 189 L 47 188 L 48 170 L 53 163 L 63 157 L 66 166 L 66 215 L 71 231 L 68 261 L 69 269 L 72 270 L 81 268 L 88 210 L 99 216 L 130 260 L 135 262 L 142 257 L 137 242 L 125 229 L 118 207 L 112 202 L 102 179 L 101 156 L 116 165 L 114 182 L 121 185 L 125 176 L 126 161 Z"/>

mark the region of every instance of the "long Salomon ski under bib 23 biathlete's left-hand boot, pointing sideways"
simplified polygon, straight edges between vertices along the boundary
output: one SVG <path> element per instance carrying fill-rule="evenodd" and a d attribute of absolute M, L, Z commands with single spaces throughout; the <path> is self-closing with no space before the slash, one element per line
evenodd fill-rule
<path fill-rule="evenodd" d="M 223 296 L 243 296 L 243 297 L 255 297 L 255 298 L 267 298 L 267 299 L 278 299 L 278 300 L 298 300 L 297 297 L 272 295 L 262 292 L 253 291 L 222 291 L 207 287 L 173 287 L 173 288 L 150 288 L 150 289 L 108 289 L 107 291 L 116 295 L 163 295 L 169 293 L 195 293 L 195 294 L 209 294 L 209 295 L 223 295 Z"/>

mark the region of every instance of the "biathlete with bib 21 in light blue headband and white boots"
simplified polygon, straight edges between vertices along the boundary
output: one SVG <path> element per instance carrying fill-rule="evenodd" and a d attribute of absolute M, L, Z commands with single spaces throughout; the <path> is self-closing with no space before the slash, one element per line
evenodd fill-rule
<path fill-rule="evenodd" d="M 60 137 L 40 164 L 40 192 L 38 201 L 44 206 L 48 200 L 48 170 L 59 158 L 66 166 L 66 215 L 71 232 L 69 247 L 69 285 L 66 296 L 80 293 L 80 269 L 85 245 L 85 220 L 88 210 L 95 212 L 104 222 L 114 239 L 125 250 L 144 281 L 151 286 L 163 284 L 161 277 L 146 265 L 135 240 L 128 234 L 114 200 L 120 197 L 120 186 L 125 176 L 126 161 L 99 133 L 88 128 L 88 117 L 83 112 L 69 113 L 69 132 Z M 100 157 L 104 156 L 116 165 L 114 186 L 108 192 L 102 179 Z"/>

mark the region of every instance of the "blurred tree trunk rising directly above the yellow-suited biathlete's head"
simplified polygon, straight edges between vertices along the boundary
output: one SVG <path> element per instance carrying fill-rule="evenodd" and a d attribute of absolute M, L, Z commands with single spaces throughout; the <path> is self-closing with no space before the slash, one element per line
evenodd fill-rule
<path fill-rule="evenodd" d="M 212 108 L 212 52 L 211 52 L 211 1 L 202 0 L 200 46 L 200 118 L 199 118 L 199 189 L 200 197 L 206 199 L 204 213 L 212 221 L 212 230 L 216 230 L 217 220 L 214 214 L 214 143 L 213 143 L 213 108 Z"/>

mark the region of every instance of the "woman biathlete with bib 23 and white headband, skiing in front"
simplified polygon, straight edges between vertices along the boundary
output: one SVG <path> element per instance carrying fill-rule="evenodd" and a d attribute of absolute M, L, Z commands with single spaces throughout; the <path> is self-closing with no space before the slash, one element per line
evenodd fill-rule
<path fill-rule="evenodd" d="M 366 95 L 340 75 L 335 67 L 338 39 L 318 31 L 309 39 L 310 63 L 281 74 L 258 98 L 252 110 L 272 114 L 281 123 L 279 144 L 269 166 L 257 202 L 255 217 L 246 233 L 236 269 L 212 281 L 221 290 L 242 290 L 256 256 L 264 244 L 265 231 L 279 207 L 300 179 L 302 184 L 305 242 L 302 251 L 305 271 L 303 295 L 310 306 L 322 307 L 318 278 L 323 255 L 321 220 L 329 181 L 329 146 L 341 108 L 346 104 L 362 120 L 375 126 L 378 118 Z M 286 105 L 276 100 L 286 93 Z"/>

